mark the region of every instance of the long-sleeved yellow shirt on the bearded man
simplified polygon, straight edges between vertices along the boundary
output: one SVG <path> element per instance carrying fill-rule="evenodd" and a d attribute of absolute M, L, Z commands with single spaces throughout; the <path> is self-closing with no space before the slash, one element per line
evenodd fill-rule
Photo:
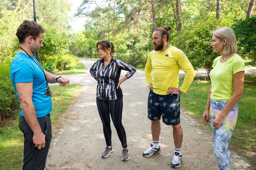
<path fill-rule="evenodd" d="M 195 77 L 195 71 L 184 52 L 171 45 L 163 51 L 151 51 L 145 66 L 148 86 L 153 83 L 153 92 L 160 95 L 166 95 L 170 87 L 178 88 L 180 67 L 185 72 L 180 90 L 186 92 Z"/>

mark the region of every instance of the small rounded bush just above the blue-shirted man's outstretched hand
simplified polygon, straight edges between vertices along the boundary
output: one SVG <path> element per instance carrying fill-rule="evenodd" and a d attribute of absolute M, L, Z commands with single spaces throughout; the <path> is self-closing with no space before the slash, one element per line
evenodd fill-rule
<path fill-rule="evenodd" d="M 73 55 L 66 54 L 57 60 L 56 69 L 71 70 L 74 69 L 77 64 L 77 59 Z"/>

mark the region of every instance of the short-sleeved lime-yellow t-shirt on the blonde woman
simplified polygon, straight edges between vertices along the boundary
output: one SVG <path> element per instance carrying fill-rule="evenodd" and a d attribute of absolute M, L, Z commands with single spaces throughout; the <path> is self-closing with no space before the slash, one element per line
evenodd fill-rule
<path fill-rule="evenodd" d="M 238 55 L 221 62 L 221 56 L 213 61 L 213 69 L 210 72 L 212 83 L 211 99 L 228 101 L 234 94 L 233 77 L 239 71 L 244 71 L 244 61 Z"/>

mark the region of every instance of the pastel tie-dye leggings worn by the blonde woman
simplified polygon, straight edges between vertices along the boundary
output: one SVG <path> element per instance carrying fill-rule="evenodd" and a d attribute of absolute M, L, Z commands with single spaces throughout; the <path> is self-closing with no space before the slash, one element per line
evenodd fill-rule
<path fill-rule="evenodd" d="M 212 123 L 219 113 L 221 113 L 221 111 L 224 109 L 226 104 L 227 101 L 217 101 L 211 99 L 210 122 L 212 135 L 214 138 L 214 155 L 217 160 L 219 170 L 231 170 L 228 145 L 233 134 L 238 115 L 238 105 L 236 104 L 234 108 L 232 108 L 232 110 L 227 114 L 221 127 L 216 130 L 216 128 L 212 126 Z"/>

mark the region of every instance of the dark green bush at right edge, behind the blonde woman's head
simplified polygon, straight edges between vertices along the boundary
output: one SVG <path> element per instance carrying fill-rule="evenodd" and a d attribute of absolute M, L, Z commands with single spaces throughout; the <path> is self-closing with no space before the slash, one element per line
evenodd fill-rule
<path fill-rule="evenodd" d="M 241 57 L 248 58 L 256 64 L 256 15 L 240 19 L 233 25 Z"/>

